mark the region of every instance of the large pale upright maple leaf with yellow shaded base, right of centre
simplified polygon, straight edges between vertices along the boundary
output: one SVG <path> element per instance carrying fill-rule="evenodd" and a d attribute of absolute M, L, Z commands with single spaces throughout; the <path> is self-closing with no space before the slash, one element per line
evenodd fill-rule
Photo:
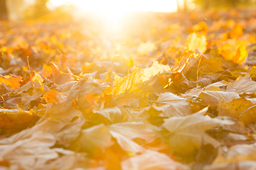
<path fill-rule="evenodd" d="M 203 115 L 207 109 L 184 117 L 173 117 L 164 120 L 163 126 L 171 132 L 169 146 L 174 151 L 183 155 L 193 155 L 206 138 L 206 130 L 225 124 L 233 124 L 229 120 L 218 120 Z"/>

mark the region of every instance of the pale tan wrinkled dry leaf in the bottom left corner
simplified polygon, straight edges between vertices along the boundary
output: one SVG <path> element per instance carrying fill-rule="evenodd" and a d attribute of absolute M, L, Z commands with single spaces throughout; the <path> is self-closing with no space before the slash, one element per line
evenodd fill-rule
<path fill-rule="evenodd" d="M 18 136 L 20 135 L 19 133 Z M 8 140 L 8 138 L 0 140 L 0 157 L 11 164 L 17 164 L 22 169 L 41 169 L 46 162 L 58 157 L 58 153 L 50 149 L 55 144 L 55 137 L 48 132 L 34 132 L 29 137 L 21 137 L 14 143 Z"/>

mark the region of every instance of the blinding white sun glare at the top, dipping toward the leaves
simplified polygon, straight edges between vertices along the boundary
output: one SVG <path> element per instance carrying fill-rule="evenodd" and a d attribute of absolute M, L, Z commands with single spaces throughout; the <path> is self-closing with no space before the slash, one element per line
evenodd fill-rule
<path fill-rule="evenodd" d="M 50 6 L 75 5 L 84 12 L 102 16 L 111 29 L 120 28 L 119 21 L 134 11 L 174 12 L 176 0 L 50 0 Z"/>

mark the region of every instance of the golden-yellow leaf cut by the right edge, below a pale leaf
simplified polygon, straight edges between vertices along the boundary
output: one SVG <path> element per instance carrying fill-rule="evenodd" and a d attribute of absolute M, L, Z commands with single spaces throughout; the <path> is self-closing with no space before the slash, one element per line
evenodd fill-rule
<path fill-rule="evenodd" d="M 221 101 L 218 104 L 218 115 L 238 118 L 242 121 L 253 122 L 256 120 L 256 107 L 246 98 L 237 98 L 230 102 Z M 252 107 L 252 108 L 250 108 Z"/>

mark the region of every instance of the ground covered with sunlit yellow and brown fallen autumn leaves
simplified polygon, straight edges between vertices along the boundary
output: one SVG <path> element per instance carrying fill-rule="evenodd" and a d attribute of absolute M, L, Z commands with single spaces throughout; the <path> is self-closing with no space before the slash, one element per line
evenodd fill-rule
<path fill-rule="evenodd" d="M 256 12 L 0 23 L 0 169 L 254 169 Z"/>

